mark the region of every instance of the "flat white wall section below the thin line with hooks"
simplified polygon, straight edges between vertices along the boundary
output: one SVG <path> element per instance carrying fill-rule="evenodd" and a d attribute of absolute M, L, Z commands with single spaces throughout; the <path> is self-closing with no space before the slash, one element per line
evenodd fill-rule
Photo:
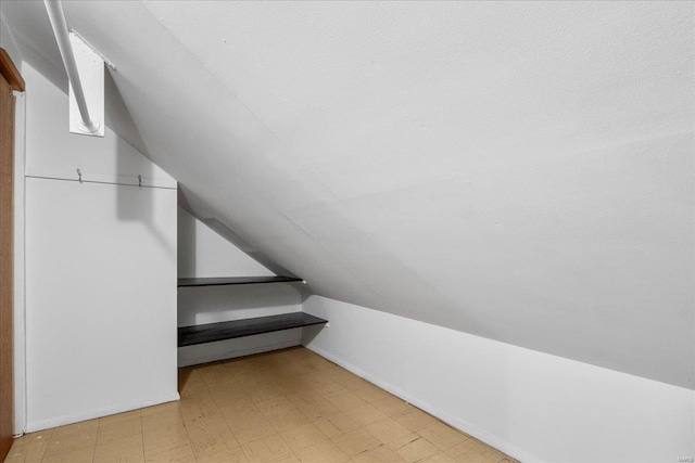
<path fill-rule="evenodd" d="M 176 399 L 176 191 L 26 193 L 29 430 Z"/>

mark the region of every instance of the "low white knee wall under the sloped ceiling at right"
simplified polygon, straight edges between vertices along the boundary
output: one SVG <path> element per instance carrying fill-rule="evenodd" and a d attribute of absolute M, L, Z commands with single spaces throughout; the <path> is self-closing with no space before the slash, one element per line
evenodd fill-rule
<path fill-rule="evenodd" d="M 309 349 L 525 463 L 695 455 L 695 393 L 311 296 Z"/>

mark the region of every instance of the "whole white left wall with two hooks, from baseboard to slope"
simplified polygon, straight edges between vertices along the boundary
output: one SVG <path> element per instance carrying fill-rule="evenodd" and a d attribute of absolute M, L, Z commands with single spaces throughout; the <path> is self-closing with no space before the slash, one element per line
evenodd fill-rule
<path fill-rule="evenodd" d="M 28 432 L 178 398 L 176 182 L 110 129 L 70 134 L 64 89 L 29 56 Z"/>

